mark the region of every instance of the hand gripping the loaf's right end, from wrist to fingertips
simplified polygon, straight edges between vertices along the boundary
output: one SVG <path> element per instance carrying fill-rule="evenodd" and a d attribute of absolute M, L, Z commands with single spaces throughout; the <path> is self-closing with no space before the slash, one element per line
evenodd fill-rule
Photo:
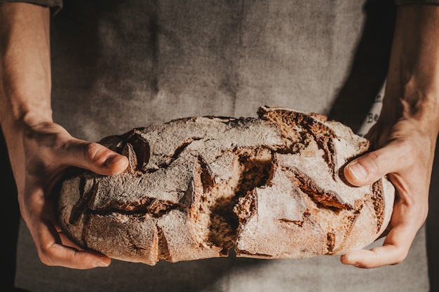
<path fill-rule="evenodd" d="M 383 119 L 385 120 L 385 118 Z M 437 131 L 414 118 L 394 123 L 379 121 L 367 138 L 377 150 L 353 160 L 344 169 L 355 186 L 377 181 L 386 174 L 396 188 L 393 214 L 383 246 L 352 251 L 342 256 L 344 264 L 380 267 L 401 263 L 428 214 L 428 190 Z"/>

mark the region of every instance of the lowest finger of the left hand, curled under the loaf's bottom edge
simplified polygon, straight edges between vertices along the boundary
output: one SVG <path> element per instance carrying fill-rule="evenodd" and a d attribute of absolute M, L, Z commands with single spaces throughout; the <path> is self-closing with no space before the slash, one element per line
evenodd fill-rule
<path fill-rule="evenodd" d="M 34 239 L 42 263 L 74 269 L 91 269 L 107 267 L 111 259 L 94 251 L 80 251 L 63 246 L 55 228 L 50 221 L 43 220 L 34 229 Z"/>

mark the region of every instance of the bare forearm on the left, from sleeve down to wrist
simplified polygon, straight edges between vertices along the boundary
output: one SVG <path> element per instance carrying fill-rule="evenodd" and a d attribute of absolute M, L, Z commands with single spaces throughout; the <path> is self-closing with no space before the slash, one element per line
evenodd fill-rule
<path fill-rule="evenodd" d="M 50 122 L 49 10 L 0 4 L 0 123 L 6 141 L 20 125 Z"/>

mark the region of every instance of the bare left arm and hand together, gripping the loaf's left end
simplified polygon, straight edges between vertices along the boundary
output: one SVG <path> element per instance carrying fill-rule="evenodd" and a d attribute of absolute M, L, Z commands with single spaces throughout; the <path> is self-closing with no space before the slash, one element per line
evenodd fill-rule
<path fill-rule="evenodd" d="M 47 7 L 0 4 L 0 125 L 20 212 L 43 263 L 78 269 L 107 266 L 109 258 L 79 249 L 62 234 L 50 193 L 70 165 L 111 175 L 126 169 L 128 159 L 74 139 L 53 123 L 49 27 Z"/>

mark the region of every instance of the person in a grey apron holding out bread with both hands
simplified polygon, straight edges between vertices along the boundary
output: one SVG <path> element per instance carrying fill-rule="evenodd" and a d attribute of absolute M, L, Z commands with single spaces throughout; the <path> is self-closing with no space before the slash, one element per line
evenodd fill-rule
<path fill-rule="evenodd" d="M 184 116 L 249 116 L 261 102 L 327 111 L 349 71 L 349 57 L 362 32 L 358 17 L 364 17 L 360 4 L 344 1 L 337 2 L 337 6 L 320 1 L 293 5 L 289 1 L 66 0 L 65 7 L 54 17 L 48 7 L 60 8 L 60 0 L 0 2 L 0 123 L 18 188 L 20 212 L 39 260 L 48 266 L 73 269 L 107 267 L 111 260 L 79 249 L 62 234 L 51 190 L 69 166 L 112 175 L 123 172 L 128 165 L 123 155 L 90 141 Z M 341 257 L 342 263 L 363 268 L 401 263 L 416 242 L 428 214 L 439 129 L 439 7 L 418 5 L 439 1 L 396 2 L 400 6 L 383 107 L 367 134 L 375 150 L 344 169 L 346 179 L 355 186 L 389 175 L 397 190 L 382 246 Z M 374 4 L 367 1 L 370 3 Z M 351 27 L 346 25 L 348 20 Z M 318 97 L 319 101 L 313 102 Z M 29 242 L 25 231 L 20 231 L 20 236 Z M 24 244 L 22 250 L 26 246 L 29 244 Z M 300 262 L 221 260 L 160 263 L 158 274 L 149 267 L 128 265 L 147 269 L 144 277 L 150 277 L 147 282 L 154 291 L 172 285 L 158 283 L 165 276 L 178 279 L 174 284 L 181 291 L 206 287 L 211 291 L 253 287 L 256 291 L 273 281 L 282 287 L 279 290 L 287 287 L 282 281 L 292 276 L 285 270 L 302 274 Z M 411 268 L 425 271 L 425 260 L 416 262 L 410 260 Z M 317 258 L 302 263 L 312 266 L 304 271 L 313 271 L 315 276 L 318 269 L 331 275 L 337 275 L 337 270 L 346 272 L 332 260 Z M 127 285 L 124 277 L 128 277 L 133 291 L 137 291 L 135 283 L 144 285 L 141 279 L 123 275 L 121 271 L 129 269 L 126 263 L 114 264 L 121 270 L 112 273 L 112 280 L 119 276 L 121 285 Z M 39 283 L 55 290 L 64 283 L 62 291 L 79 291 L 78 287 L 72 288 L 72 275 L 79 275 L 74 270 L 53 267 L 46 273 L 33 265 L 28 270 L 24 267 L 20 276 L 24 288 L 42 291 L 36 288 Z M 328 271 L 328 267 L 334 267 L 334 271 Z M 48 268 L 41 267 L 41 271 Z M 116 287 L 104 284 L 102 279 L 109 278 L 104 270 L 81 273 L 86 280 L 77 285 L 83 290 L 90 288 L 88 282 L 94 283 L 93 288 Z M 248 270 L 261 279 L 252 277 L 253 282 L 249 281 Z M 174 276 L 177 271 L 180 276 Z M 62 273 L 67 276 L 61 278 Z M 92 279 L 95 273 L 102 274 Z M 225 274 L 227 281 L 221 280 Z M 349 285 L 364 275 L 351 270 L 348 274 L 356 274 L 347 280 Z M 304 285 L 320 285 L 313 291 L 342 291 L 332 282 L 323 283 L 313 277 L 310 281 L 309 274 L 302 277 Z M 417 274 L 417 279 L 404 281 L 402 277 L 402 284 L 394 288 L 414 291 L 413 285 L 418 285 L 416 291 L 426 291 L 426 281 L 419 281 L 425 276 Z M 374 284 L 377 287 L 384 285 L 379 280 Z M 200 281 L 203 286 L 197 286 Z M 344 284 L 342 281 L 339 285 Z"/>

